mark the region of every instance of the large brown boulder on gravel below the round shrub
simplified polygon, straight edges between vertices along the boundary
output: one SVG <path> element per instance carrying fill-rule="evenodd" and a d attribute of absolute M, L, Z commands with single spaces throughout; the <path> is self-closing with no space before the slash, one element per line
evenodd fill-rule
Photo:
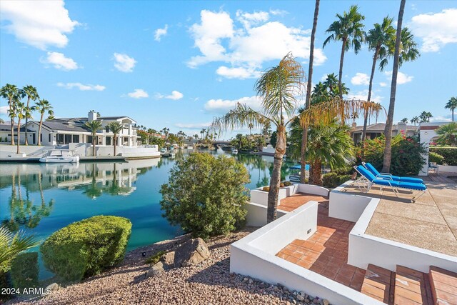
<path fill-rule="evenodd" d="M 190 239 L 176 249 L 174 254 L 174 266 L 176 268 L 194 266 L 208 259 L 208 246 L 203 239 Z"/>

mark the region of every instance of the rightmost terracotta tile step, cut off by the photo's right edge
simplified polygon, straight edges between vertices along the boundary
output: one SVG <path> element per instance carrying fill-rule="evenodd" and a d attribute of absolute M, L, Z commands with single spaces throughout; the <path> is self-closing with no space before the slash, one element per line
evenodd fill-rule
<path fill-rule="evenodd" d="M 431 266 L 428 276 L 430 278 L 433 304 L 456 305 L 457 273 Z"/>

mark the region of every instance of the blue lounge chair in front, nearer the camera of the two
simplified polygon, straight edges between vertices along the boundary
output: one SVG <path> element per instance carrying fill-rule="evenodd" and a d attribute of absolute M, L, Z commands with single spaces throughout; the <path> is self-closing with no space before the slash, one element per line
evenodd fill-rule
<path fill-rule="evenodd" d="M 398 189 L 408 189 L 413 193 L 414 191 L 421 191 L 422 194 L 419 196 L 413 196 L 411 201 L 416 202 L 416 200 L 421 197 L 423 194 L 426 193 L 427 191 L 427 186 L 425 184 L 417 184 L 417 183 L 411 183 L 411 182 L 402 182 L 402 181 L 393 181 L 391 179 L 384 179 L 384 178 L 378 178 L 374 176 L 371 171 L 368 171 L 364 166 L 354 166 L 354 169 L 358 172 L 358 174 L 361 174 L 361 179 L 356 180 L 356 183 L 358 187 L 362 191 L 370 191 L 371 187 L 373 185 L 378 185 L 381 186 L 381 190 L 383 186 L 389 186 L 393 190 L 393 194 L 398 197 Z M 359 182 L 363 182 L 365 185 L 359 184 Z"/>

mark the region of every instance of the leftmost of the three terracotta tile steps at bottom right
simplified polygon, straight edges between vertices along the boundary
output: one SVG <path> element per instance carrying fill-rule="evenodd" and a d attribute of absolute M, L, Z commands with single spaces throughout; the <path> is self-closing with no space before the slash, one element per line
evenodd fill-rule
<path fill-rule="evenodd" d="M 361 293 L 383 303 L 393 304 L 393 279 L 395 279 L 394 272 L 369 264 Z"/>

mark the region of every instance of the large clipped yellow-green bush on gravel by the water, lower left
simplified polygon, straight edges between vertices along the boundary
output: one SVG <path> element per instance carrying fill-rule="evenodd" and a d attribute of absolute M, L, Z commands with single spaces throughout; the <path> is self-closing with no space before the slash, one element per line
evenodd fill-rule
<path fill-rule="evenodd" d="M 48 269 L 67 281 L 79 281 L 118 264 L 130 234 L 129 219 L 94 216 L 54 232 L 40 251 Z"/>

